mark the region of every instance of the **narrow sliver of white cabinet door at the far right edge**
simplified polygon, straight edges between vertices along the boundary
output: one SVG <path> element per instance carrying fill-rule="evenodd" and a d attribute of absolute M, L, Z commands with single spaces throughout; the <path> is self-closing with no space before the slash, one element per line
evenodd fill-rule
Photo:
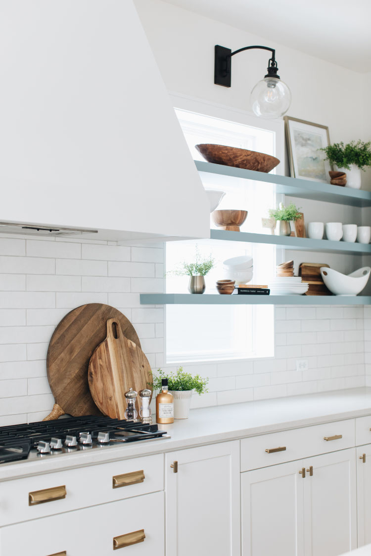
<path fill-rule="evenodd" d="M 371 543 L 371 444 L 357 448 L 358 546 Z"/>

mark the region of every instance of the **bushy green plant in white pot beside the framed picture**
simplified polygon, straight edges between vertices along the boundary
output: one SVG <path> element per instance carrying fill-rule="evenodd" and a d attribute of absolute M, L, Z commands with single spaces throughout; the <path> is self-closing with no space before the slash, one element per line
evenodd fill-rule
<path fill-rule="evenodd" d="M 371 166 L 371 141 L 367 143 L 363 141 L 350 141 L 344 145 L 343 141 L 334 143 L 328 147 L 321 148 L 326 153 L 327 158 L 335 165 L 339 172 L 347 174 L 346 187 L 360 189 L 361 178 L 360 171 Z"/>

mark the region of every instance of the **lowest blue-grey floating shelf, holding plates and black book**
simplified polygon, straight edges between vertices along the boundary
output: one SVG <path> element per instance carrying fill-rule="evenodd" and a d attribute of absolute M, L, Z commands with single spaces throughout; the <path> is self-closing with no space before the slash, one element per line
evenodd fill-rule
<path fill-rule="evenodd" d="M 142 305 L 370 305 L 371 296 L 141 294 Z"/>

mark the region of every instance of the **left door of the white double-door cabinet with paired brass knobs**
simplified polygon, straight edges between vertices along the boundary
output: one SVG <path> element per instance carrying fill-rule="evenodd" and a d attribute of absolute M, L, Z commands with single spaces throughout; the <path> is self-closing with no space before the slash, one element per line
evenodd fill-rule
<path fill-rule="evenodd" d="M 300 461 L 241 474 L 243 556 L 303 556 Z"/>

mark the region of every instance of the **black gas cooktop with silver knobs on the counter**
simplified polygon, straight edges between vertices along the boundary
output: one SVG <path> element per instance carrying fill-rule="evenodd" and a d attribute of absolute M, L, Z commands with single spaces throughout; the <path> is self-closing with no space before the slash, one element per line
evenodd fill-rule
<path fill-rule="evenodd" d="M 0 427 L 0 464 L 170 438 L 157 425 L 87 415 Z"/>

